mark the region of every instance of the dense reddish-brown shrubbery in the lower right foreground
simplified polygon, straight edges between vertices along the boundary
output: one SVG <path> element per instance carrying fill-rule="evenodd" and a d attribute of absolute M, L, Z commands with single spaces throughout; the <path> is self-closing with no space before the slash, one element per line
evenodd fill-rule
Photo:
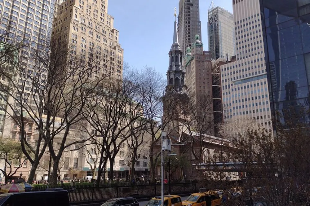
<path fill-rule="evenodd" d="M 242 174 L 242 200 L 274 206 L 310 204 L 310 131 L 304 121 L 308 115 L 305 109 L 291 108 L 285 118 L 273 121 L 276 135 L 259 127 L 233 137 L 234 147 L 225 159 L 237 163 Z"/>

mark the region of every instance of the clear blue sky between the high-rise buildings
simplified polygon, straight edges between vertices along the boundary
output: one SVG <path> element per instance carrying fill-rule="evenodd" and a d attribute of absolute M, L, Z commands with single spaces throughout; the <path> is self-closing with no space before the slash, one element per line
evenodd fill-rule
<path fill-rule="evenodd" d="M 200 0 L 204 50 L 208 50 L 208 8 L 211 0 Z M 232 12 L 232 0 L 214 0 L 215 6 Z M 179 0 L 109 0 L 108 13 L 114 17 L 124 60 L 136 68 L 145 65 L 166 74 L 168 52 L 173 39 L 174 8 Z"/>

